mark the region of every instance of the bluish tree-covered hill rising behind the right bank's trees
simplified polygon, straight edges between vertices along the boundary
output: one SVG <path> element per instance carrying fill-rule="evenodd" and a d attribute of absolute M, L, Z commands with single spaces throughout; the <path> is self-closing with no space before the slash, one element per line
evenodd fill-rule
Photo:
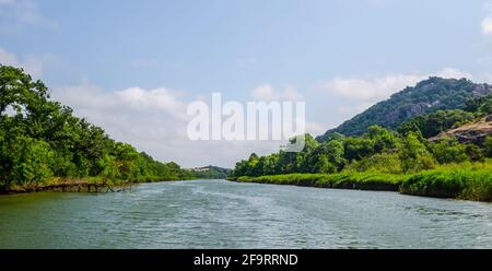
<path fill-rule="evenodd" d="M 492 93 L 492 85 L 476 84 L 467 79 L 430 78 L 413 87 L 394 94 L 365 111 L 328 130 L 317 138 L 323 142 L 333 133 L 360 136 L 372 125 L 396 129 L 417 116 L 444 109 L 461 108 L 473 98 Z"/>

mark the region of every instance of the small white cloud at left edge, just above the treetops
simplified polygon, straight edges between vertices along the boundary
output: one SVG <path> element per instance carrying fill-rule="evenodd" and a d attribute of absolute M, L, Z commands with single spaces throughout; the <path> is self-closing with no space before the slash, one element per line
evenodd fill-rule
<path fill-rule="evenodd" d="M 1 1 L 1 0 L 0 0 Z M 4 66 L 13 66 L 23 68 L 25 72 L 33 78 L 39 79 L 43 75 L 45 63 L 43 59 L 34 56 L 24 56 L 21 59 L 3 48 L 0 47 L 0 63 Z"/>

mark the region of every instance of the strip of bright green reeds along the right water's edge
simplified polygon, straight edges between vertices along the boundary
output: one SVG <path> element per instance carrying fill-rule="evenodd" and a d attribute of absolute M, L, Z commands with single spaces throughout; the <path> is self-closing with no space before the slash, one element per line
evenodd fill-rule
<path fill-rule="evenodd" d="M 350 172 L 288 174 L 227 179 L 238 182 L 394 191 L 410 196 L 492 202 L 492 172 L 488 169 L 435 169 L 413 175 Z"/>

